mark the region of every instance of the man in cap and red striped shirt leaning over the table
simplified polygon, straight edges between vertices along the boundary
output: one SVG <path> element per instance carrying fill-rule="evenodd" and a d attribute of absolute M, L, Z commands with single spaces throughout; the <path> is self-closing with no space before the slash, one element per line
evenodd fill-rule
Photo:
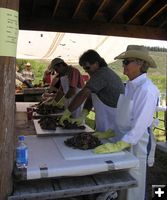
<path fill-rule="evenodd" d="M 81 73 L 77 68 L 68 65 L 61 58 L 54 58 L 52 60 L 50 70 L 56 71 L 60 79 L 60 87 L 56 93 L 53 105 L 59 108 L 66 108 L 68 107 L 72 99 L 77 95 L 77 93 L 84 87 L 84 81 Z M 80 113 L 82 112 L 82 107 L 83 105 L 80 105 L 72 113 L 72 116 L 74 118 L 80 116 Z"/>

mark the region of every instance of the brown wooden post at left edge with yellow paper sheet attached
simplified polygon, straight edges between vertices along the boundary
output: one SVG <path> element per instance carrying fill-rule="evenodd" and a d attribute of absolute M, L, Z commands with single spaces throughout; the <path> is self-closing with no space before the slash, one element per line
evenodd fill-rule
<path fill-rule="evenodd" d="M 13 12 L 18 11 L 18 8 L 19 0 L 0 1 L 1 28 L 5 25 L 5 20 L 3 19 L 2 15 L 2 13 L 4 13 L 4 10 L 8 9 L 9 11 Z M 13 23 L 12 20 L 9 23 Z M 9 29 L 10 28 L 11 27 L 9 27 Z M 9 39 L 11 38 L 9 37 Z M 11 55 L 10 53 L 8 55 L 8 51 L 10 51 L 10 45 L 6 46 L 7 48 L 5 48 L 3 42 L 4 41 L 0 38 L 0 200 L 6 200 L 8 194 L 10 194 L 12 191 L 15 118 L 16 57 L 15 55 Z M 5 42 L 7 45 L 9 41 L 6 40 Z M 5 53 L 3 53 L 3 51 Z"/>

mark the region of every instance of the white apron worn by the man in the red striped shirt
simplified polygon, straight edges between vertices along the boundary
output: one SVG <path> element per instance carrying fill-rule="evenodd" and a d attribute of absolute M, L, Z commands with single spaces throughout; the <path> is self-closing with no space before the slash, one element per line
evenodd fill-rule
<path fill-rule="evenodd" d="M 68 90 L 69 90 L 69 80 L 68 80 L 68 76 L 62 76 L 60 78 L 60 81 L 61 81 L 61 86 L 63 88 L 63 92 L 64 94 L 67 94 Z M 80 88 L 77 88 L 76 90 L 76 94 L 80 91 L 81 89 Z M 66 102 L 65 102 L 65 108 L 67 108 L 70 104 L 70 102 L 73 100 L 73 98 L 76 96 L 76 94 L 67 99 Z M 72 117 L 73 118 L 78 118 L 80 115 L 81 115 L 81 112 L 82 112 L 82 109 L 83 109 L 83 104 L 81 104 L 74 112 L 72 112 Z"/>

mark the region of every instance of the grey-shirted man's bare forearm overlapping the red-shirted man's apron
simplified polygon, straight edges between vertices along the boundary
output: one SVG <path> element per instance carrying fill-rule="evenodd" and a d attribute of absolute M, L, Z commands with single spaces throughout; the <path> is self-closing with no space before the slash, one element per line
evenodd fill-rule
<path fill-rule="evenodd" d="M 89 96 L 91 95 L 91 90 L 88 87 L 84 87 L 72 100 L 68 109 L 70 112 L 76 110 Z"/>

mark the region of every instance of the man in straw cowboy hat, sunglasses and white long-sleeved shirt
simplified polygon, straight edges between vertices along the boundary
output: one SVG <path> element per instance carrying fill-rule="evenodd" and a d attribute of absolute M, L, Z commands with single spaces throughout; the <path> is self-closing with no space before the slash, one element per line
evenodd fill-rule
<path fill-rule="evenodd" d="M 115 59 L 122 59 L 123 73 L 129 78 L 125 95 L 120 95 L 117 104 L 115 131 L 120 138 L 115 143 L 96 147 L 94 152 L 112 153 L 131 147 L 131 151 L 139 159 L 139 168 L 131 170 L 138 181 L 138 187 L 128 189 L 127 200 L 144 200 L 146 166 L 153 165 L 152 153 L 155 150 L 151 148 L 155 147 L 151 126 L 159 98 L 159 91 L 147 77 L 147 70 L 157 66 L 144 46 L 129 45 Z"/>

